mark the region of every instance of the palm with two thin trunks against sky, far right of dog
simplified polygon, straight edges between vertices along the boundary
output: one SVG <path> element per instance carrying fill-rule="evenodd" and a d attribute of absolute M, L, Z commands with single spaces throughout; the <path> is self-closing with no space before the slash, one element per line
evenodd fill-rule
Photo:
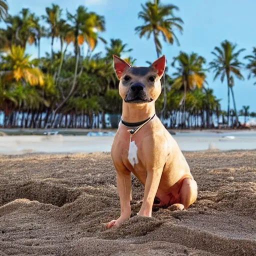
<path fill-rule="evenodd" d="M 234 93 L 233 93 L 233 86 L 234 86 L 234 79 L 233 75 L 238 79 L 244 79 L 240 69 L 243 65 L 239 60 L 239 54 L 245 49 L 239 49 L 235 51 L 236 44 L 233 44 L 227 40 L 221 42 L 221 47 L 215 47 L 214 51 L 211 53 L 216 57 L 210 63 L 210 69 L 213 69 L 215 76 L 213 80 L 220 76 L 221 82 L 223 82 L 224 78 L 226 77 L 227 80 L 227 125 L 229 123 L 229 101 L 230 96 L 229 92 L 231 91 L 232 99 L 233 99 L 233 106 L 234 106 L 234 114 L 236 116 L 236 122 L 238 121 L 235 100 L 234 100 Z M 233 74 L 233 75 L 232 75 Z"/>

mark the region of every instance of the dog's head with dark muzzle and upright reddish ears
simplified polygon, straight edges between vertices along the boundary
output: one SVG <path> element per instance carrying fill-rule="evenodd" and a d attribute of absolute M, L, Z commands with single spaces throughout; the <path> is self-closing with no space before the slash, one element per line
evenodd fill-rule
<path fill-rule="evenodd" d="M 160 79 L 165 69 L 165 56 L 149 67 L 131 66 L 113 55 L 114 70 L 120 80 L 119 94 L 126 103 L 142 104 L 155 101 L 161 93 Z"/>

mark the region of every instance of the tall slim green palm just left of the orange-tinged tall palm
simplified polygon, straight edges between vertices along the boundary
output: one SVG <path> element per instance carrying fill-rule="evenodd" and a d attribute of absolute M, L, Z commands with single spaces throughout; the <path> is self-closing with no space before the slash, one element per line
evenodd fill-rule
<path fill-rule="evenodd" d="M 53 58 L 53 42 L 54 38 L 59 34 L 57 24 L 60 20 L 62 9 L 59 5 L 52 3 L 51 8 L 46 7 L 45 11 L 46 15 L 43 15 L 42 17 L 49 25 L 48 36 L 51 38 L 51 58 Z"/>

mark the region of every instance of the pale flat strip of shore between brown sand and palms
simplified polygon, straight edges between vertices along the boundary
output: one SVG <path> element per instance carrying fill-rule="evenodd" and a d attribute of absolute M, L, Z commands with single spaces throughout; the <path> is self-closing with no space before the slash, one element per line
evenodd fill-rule
<path fill-rule="evenodd" d="M 44 132 L 47 134 L 47 130 L 5 129 L 4 131 L 11 132 L 12 135 L 0 136 L 0 154 L 109 152 L 116 130 L 51 131 L 56 132 L 55 135 L 43 134 Z M 180 149 L 185 151 L 256 149 L 256 130 L 176 130 L 174 132 L 173 138 Z"/>

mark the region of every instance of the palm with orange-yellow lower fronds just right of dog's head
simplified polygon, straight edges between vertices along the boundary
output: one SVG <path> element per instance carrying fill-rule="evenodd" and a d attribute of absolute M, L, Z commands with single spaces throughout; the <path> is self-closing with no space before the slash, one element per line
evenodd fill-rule
<path fill-rule="evenodd" d="M 185 52 L 180 52 L 177 57 L 173 58 L 172 66 L 176 66 L 176 72 L 173 73 L 174 82 L 173 88 L 183 90 L 184 95 L 180 101 L 180 106 L 183 111 L 182 125 L 185 126 L 185 99 L 186 92 L 195 89 L 195 87 L 201 88 L 205 82 L 206 74 L 202 65 L 206 62 L 202 56 L 192 52 L 190 55 Z"/>

